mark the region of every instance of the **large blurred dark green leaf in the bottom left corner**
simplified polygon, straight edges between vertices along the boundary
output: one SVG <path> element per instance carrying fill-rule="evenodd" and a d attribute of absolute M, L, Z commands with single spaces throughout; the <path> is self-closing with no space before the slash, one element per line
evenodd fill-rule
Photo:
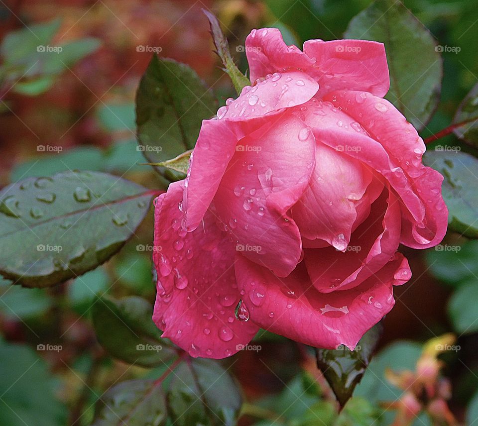
<path fill-rule="evenodd" d="M 32 349 L 0 340 L 0 377 L 0 425 L 66 425 L 57 380 Z"/>

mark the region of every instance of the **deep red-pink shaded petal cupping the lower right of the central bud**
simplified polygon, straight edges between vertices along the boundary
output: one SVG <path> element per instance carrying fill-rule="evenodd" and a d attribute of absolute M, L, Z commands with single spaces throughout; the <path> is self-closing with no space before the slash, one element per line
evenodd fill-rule
<path fill-rule="evenodd" d="M 388 199 L 388 201 L 387 201 Z M 304 260 L 314 287 L 323 293 L 357 287 L 393 258 L 400 241 L 400 204 L 384 189 L 367 219 L 352 234 L 349 250 L 333 247 L 304 250 Z M 329 268 L 337 262 L 337 267 Z"/>

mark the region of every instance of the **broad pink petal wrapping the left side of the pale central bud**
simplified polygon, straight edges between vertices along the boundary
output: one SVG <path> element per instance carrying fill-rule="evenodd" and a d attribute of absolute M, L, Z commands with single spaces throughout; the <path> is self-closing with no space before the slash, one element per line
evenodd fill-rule
<path fill-rule="evenodd" d="M 302 253 L 299 229 L 285 213 L 309 183 L 315 139 L 285 112 L 241 139 L 238 149 L 214 198 L 217 213 L 245 257 L 285 277 Z"/>

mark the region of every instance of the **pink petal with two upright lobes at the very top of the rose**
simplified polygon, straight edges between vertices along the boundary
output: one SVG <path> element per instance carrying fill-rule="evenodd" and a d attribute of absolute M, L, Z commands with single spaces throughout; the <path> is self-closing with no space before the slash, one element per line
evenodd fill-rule
<path fill-rule="evenodd" d="M 252 30 L 245 41 L 250 79 L 286 70 L 302 70 L 320 85 L 319 96 L 332 90 L 388 92 L 390 79 L 382 43 L 366 40 L 308 40 L 304 52 L 287 46 L 276 28 Z"/>

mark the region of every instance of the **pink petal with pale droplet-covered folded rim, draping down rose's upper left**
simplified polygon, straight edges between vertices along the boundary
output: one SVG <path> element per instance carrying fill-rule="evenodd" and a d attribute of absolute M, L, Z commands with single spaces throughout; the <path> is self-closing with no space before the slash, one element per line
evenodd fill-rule
<path fill-rule="evenodd" d="M 184 191 L 186 229 L 194 229 L 209 208 L 239 139 L 277 122 L 282 108 L 307 102 L 317 89 L 317 83 L 301 72 L 271 76 L 219 108 L 220 119 L 203 120 Z"/>

